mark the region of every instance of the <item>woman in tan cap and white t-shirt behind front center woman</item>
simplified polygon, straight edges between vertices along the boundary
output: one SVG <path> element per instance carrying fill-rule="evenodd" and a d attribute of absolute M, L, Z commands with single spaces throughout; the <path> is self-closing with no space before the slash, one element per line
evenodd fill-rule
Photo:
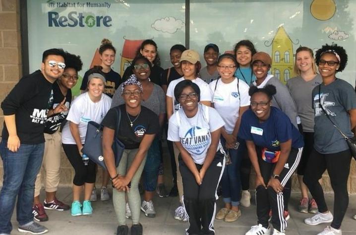
<path fill-rule="evenodd" d="M 172 81 L 168 86 L 168 90 L 166 94 L 168 120 L 181 107 L 180 102 L 178 99 L 176 99 L 174 93 L 177 84 L 181 81 L 190 80 L 199 87 L 200 103 L 210 106 L 212 101 L 212 93 L 209 88 L 209 85 L 198 77 L 199 70 L 201 68 L 198 52 L 196 52 L 195 50 L 184 50 L 179 61 L 180 61 L 181 70 L 183 72 L 183 77 Z M 176 145 L 174 145 L 174 153 L 175 153 L 176 165 L 178 166 L 179 150 Z M 186 220 L 186 218 L 184 217 L 184 207 L 182 206 L 183 187 L 182 187 L 181 175 L 178 167 L 177 167 L 177 186 L 178 186 L 179 202 L 181 203 L 181 205 L 179 205 L 175 211 L 175 219 Z"/>

